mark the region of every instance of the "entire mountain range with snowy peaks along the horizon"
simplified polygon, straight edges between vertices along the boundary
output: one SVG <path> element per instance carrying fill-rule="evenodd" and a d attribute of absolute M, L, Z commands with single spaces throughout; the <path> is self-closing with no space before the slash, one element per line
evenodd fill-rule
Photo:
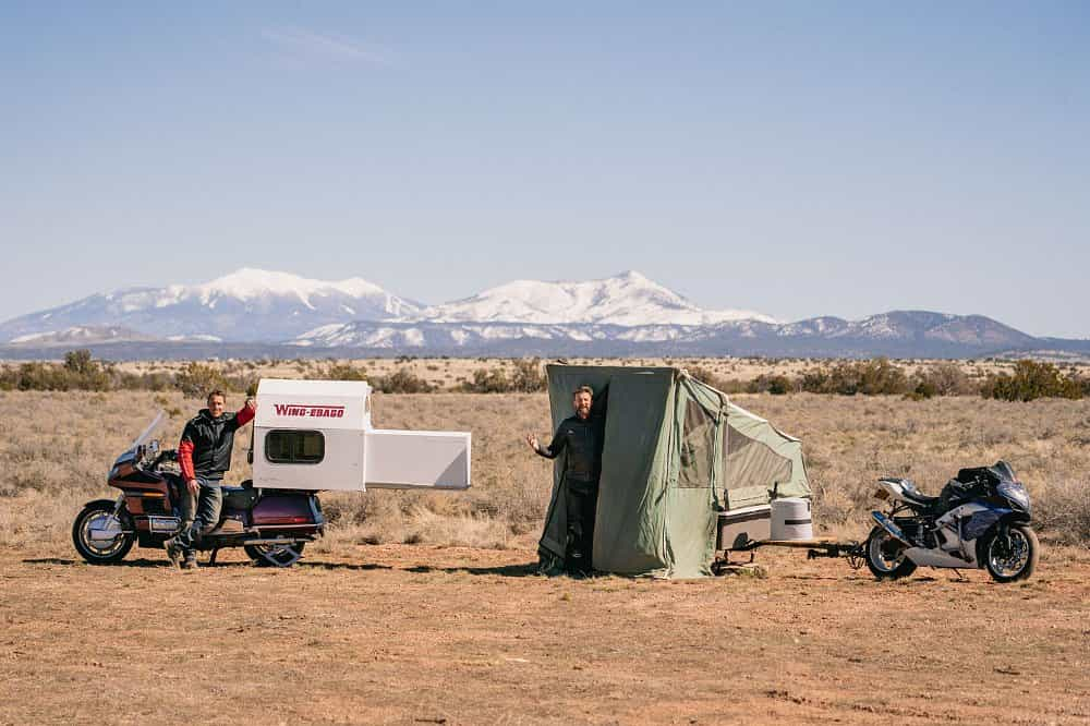
<path fill-rule="evenodd" d="M 199 285 L 128 288 L 0 324 L 0 358 L 92 348 L 112 359 L 272 354 L 777 355 L 964 358 L 1090 353 L 982 315 L 894 311 L 782 323 L 707 311 L 635 271 L 516 280 L 437 305 L 361 278 L 243 268 Z"/>

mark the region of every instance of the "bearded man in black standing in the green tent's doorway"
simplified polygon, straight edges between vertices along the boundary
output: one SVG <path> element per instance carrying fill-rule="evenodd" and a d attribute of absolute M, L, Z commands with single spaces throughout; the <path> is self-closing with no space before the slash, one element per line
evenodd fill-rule
<path fill-rule="evenodd" d="M 592 411 L 593 403 L 594 390 L 590 386 L 580 386 L 571 398 L 576 415 L 560 422 L 548 446 L 542 446 L 535 435 L 526 434 L 526 444 L 538 456 L 556 459 L 561 452 L 567 452 L 560 482 L 566 487 L 568 521 L 565 569 L 574 574 L 589 574 L 592 570 L 594 516 L 605 438 L 605 416 Z M 598 407 L 598 410 L 602 408 Z"/>

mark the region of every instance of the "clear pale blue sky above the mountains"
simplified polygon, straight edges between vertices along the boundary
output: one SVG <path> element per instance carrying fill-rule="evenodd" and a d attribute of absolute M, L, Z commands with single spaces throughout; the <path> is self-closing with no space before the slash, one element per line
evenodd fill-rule
<path fill-rule="evenodd" d="M 157 4 L 0 4 L 0 319 L 637 269 L 1090 336 L 1088 2 Z"/>

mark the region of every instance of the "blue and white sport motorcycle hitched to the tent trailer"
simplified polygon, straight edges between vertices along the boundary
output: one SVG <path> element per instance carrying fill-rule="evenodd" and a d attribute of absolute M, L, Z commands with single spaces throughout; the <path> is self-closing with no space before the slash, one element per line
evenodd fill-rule
<path fill-rule="evenodd" d="M 937 497 L 894 477 L 880 479 L 875 496 L 891 505 L 871 512 L 877 524 L 864 545 L 867 566 L 879 579 L 928 566 L 986 568 L 993 579 L 1012 582 L 1037 566 L 1029 493 L 1005 461 L 960 470 Z"/>

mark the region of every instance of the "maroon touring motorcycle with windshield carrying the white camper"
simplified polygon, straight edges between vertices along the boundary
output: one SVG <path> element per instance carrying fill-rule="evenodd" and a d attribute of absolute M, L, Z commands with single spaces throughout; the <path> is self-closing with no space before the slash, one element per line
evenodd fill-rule
<path fill-rule="evenodd" d="M 92 565 L 120 562 L 133 544 L 161 548 L 179 531 L 185 482 L 178 452 L 152 438 L 165 418 L 160 411 L 113 462 L 107 483 L 121 495 L 88 501 L 72 524 L 76 552 Z M 258 565 L 290 567 L 322 536 L 325 519 L 314 492 L 254 488 L 250 481 L 222 488 L 219 523 L 196 545 L 211 550 L 211 564 L 223 547 L 243 547 Z"/>

